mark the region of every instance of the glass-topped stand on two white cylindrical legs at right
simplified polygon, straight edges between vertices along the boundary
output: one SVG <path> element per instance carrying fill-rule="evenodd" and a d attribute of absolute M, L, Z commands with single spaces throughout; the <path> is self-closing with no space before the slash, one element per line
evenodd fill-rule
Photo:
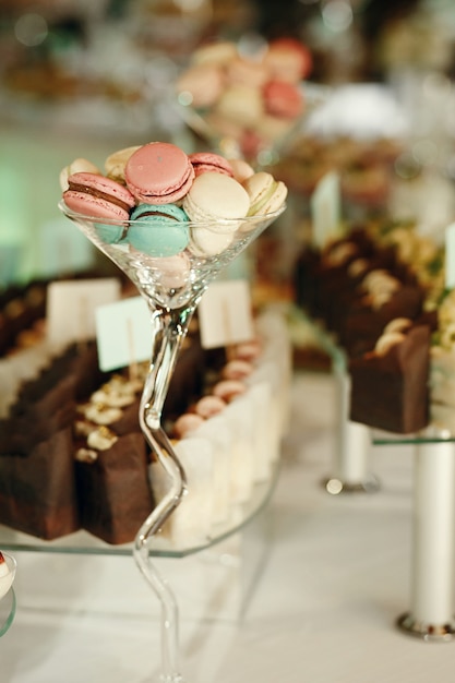
<path fill-rule="evenodd" d="M 351 422 L 348 417 L 349 378 L 346 358 L 336 343 L 312 324 L 321 346 L 332 358 L 336 381 L 336 443 L 328 493 L 371 493 L 379 483 L 370 470 L 374 445 L 412 445 L 414 501 L 410 607 L 397 619 L 400 631 L 424 640 L 452 640 L 455 635 L 455 438 L 428 427 L 418 434 L 396 435 Z"/>

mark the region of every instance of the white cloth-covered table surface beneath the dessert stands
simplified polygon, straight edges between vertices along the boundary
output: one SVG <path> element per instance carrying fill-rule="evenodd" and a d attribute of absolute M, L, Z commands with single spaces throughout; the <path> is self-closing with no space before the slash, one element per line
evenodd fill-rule
<path fill-rule="evenodd" d="M 373 448 L 379 491 L 328 495 L 335 392 L 328 374 L 295 375 L 277 486 L 241 534 L 156 559 L 179 600 L 189 683 L 452 680 L 453 644 L 395 626 L 409 602 L 414 447 Z M 159 670 L 159 608 L 131 558 L 13 554 L 4 681 L 145 683 Z"/>

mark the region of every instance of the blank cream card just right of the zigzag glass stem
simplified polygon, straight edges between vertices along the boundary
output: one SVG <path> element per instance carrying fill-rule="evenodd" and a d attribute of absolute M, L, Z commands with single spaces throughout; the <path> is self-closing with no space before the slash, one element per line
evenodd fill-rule
<path fill-rule="evenodd" d="M 197 311 L 203 348 L 231 346 L 254 337 L 248 280 L 212 283 L 202 297 Z"/>

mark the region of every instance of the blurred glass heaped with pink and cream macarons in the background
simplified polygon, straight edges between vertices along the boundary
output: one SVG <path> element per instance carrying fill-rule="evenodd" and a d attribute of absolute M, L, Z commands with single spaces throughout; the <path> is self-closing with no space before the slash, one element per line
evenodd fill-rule
<path fill-rule="evenodd" d="M 214 149 L 263 168 L 323 101 L 311 70 L 309 48 L 290 37 L 201 45 L 176 77 L 176 106 Z"/>

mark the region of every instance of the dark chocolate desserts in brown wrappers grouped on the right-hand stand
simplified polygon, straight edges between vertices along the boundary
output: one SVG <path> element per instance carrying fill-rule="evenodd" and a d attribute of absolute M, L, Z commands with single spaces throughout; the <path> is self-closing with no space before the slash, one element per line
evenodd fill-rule
<path fill-rule="evenodd" d="M 394 433 L 429 424 L 442 254 L 411 225 L 387 221 L 302 252 L 297 300 L 346 354 L 354 422 Z"/>

